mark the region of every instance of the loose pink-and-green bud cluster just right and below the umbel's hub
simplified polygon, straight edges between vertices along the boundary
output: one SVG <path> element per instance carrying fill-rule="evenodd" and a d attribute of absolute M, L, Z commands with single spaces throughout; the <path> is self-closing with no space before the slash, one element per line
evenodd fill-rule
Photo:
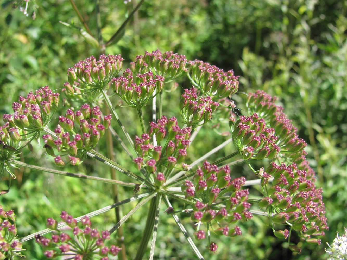
<path fill-rule="evenodd" d="M 185 198 L 195 202 L 191 219 L 198 223 L 210 223 L 212 220 L 225 223 L 214 229 L 217 235 L 241 235 L 240 228 L 235 224 L 253 217 L 248 211 L 251 207 L 251 203 L 247 202 L 248 189 L 240 189 L 245 182 L 245 177 L 231 180 L 228 165 L 218 168 L 205 161 L 202 168 L 196 170 L 193 180 L 186 180 L 181 186 Z M 223 195 L 226 192 L 228 196 Z M 196 236 L 197 239 L 204 238 L 202 229 L 197 231 Z"/>

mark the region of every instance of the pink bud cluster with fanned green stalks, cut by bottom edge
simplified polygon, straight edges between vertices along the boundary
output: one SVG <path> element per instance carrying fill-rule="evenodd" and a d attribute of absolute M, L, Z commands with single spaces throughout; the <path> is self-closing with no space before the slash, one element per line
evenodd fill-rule
<path fill-rule="evenodd" d="M 81 219 L 82 229 L 77 226 L 76 219 L 65 211 L 61 212 L 60 217 L 72 229 L 73 236 L 62 232 L 57 228 L 57 221 L 48 218 L 46 225 L 54 231 L 51 239 L 41 235 L 35 236 L 35 241 L 44 248 L 46 258 L 54 259 L 66 255 L 74 260 L 108 260 L 109 254 L 116 256 L 121 250 L 116 245 L 105 246 L 105 242 L 110 239 L 110 233 L 92 228 L 88 216 Z"/>

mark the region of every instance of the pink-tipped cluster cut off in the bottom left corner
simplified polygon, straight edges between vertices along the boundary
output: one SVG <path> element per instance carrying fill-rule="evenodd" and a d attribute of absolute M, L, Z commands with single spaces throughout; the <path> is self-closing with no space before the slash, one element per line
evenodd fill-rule
<path fill-rule="evenodd" d="M 22 243 L 17 238 L 16 215 L 13 210 L 5 211 L 0 205 L 0 259 L 21 256 Z"/>

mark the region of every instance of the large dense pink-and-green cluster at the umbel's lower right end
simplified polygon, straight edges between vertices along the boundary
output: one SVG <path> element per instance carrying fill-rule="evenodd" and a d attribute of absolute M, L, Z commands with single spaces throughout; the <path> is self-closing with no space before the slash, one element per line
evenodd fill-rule
<path fill-rule="evenodd" d="M 292 229 L 303 232 L 306 240 L 312 239 L 312 236 L 324 235 L 324 229 L 328 229 L 328 226 L 322 189 L 315 187 L 313 170 L 307 163 L 292 163 L 289 166 L 271 163 L 266 172 L 261 169 L 258 174 L 263 176 L 262 179 L 273 176 L 271 185 L 268 184 L 263 189 L 265 197 L 259 202 L 259 206 L 267 208 L 274 224 L 290 223 Z M 265 187 L 267 181 L 262 183 Z M 283 234 L 285 233 L 275 233 L 277 236 Z M 320 244 L 320 239 L 316 241 Z"/>

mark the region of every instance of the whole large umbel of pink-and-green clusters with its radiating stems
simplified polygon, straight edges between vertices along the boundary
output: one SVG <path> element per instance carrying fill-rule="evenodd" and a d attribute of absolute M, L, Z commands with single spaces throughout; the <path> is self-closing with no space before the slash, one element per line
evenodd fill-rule
<path fill-rule="evenodd" d="M 13 104 L 14 114 L 3 116 L 0 175 L 4 171 L 10 172 L 9 167 L 12 166 L 27 167 L 122 185 L 134 191 L 129 198 L 121 201 L 115 196 L 113 205 L 90 214 L 116 208 L 117 224 L 109 232 L 92 229 L 87 216 L 77 218 L 83 225 L 80 228 L 77 220 L 63 211 L 60 216 L 71 228 L 71 233 L 65 233 L 58 228 L 65 224 L 58 225 L 56 220 L 49 218 L 47 226 L 53 230 L 51 238 L 35 237 L 36 242 L 43 246 L 46 258 L 64 255 L 74 260 L 106 260 L 111 255 L 117 255 L 118 246 L 105 245 L 112 235 L 110 233 L 117 231 L 120 237 L 123 236 L 121 225 L 132 214 L 139 212 L 140 207 L 150 204 L 147 211 L 142 211 L 148 214 L 134 259 L 143 259 L 151 237 L 150 259 L 153 259 L 155 239 L 160 234 L 159 224 L 163 223 L 159 221 L 162 202 L 167 205 L 165 212 L 174 218 L 198 259 L 204 258 L 180 223 L 177 213 L 190 214 L 191 220 L 196 223 L 195 238 L 207 238 L 206 248 L 211 252 L 216 252 L 220 243 L 211 237 L 239 236 L 244 228 L 243 222 L 252 222 L 255 215 L 268 218 L 277 237 L 288 239 L 291 231 L 297 231 L 303 241 L 321 243 L 320 236 L 328 229 L 322 189 L 315 186 L 315 173 L 306 161 L 305 141 L 298 137 L 297 129 L 283 113 L 283 108 L 276 105 L 276 98 L 262 91 L 250 93 L 245 115 L 236 115 L 234 109 L 238 109 L 238 113 L 243 113 L 245 109 L 237 108 L 230 99 L 239 86 L 238 76 L 232 70 L 225 72 L 209 63 L 187 61 L 184 55 L 156 50 L 137 56 L 135 62 L 118 75 L 122 60 L 120 55 L 101 55 L 99 60 L 91 56 L 68 70 L 68 82 L 64 84 L 66 94 L 68 99 L 79 102 L 79 105 L 71 106 L 65 115 L 58 116 L 59 122 L 54 130 L 49 129 L 48 122 L 58 105 L 59 94 L 53 93 L 47 86 L 35 94 L 29 93 L 26 98 L 20 97 Z M 186 76 L 193 87 L 179 93 L 180 100 L 177 100 L 176 106 L 172 105 L 174 100 L 164 106 L 164 97 L 168 98 L 164 95 L 181 89 L 176 88 L 178 84 L 175 82 L 180 76 Z M 175 87 L 164 91 L 168 82 Z M 125 106 L 117 106 L 116 109 L 119 98 Z M 236 100 L 239 102 L 241 99 Z M 90 103 L 107 106 L 111 114 L 102 116 L 100 107 L 92 108 Z M 137 112 L 139 125 L 136 125 L 137 120 L 132 115 L 129 115 L 131 120 L 124 120 L 124 116 L 122 118 L 117 114 L 118 110 L 126 110 L 128 115 L 132 108 Z M 178 113 L 180 118 L 163 116 L 163 108 L 169 108 L 169 113 Z M 108 141 L 113 135 L 118 141 L 117 147 L 123 149 L 119 153 L 117 151 L 117 158 L 112 156 L 115 152 L 112 145 L 100 149 L 96 147 L 110 127 L 111 115 L 116 119 L 112 124 L 118 125 L 112 125 L 114 131 L 110 131 Z M 144 118 L 149 116 L 152 116 L 152 122 L 146 124 Z M 209 128 L 211 121 L 214 125 Z M 179 126 L 178 122 L 184 125 Z M 127 126 L 136 131 L 140 125 L 142 130 L 134 135 L 128 131 Z M 205 144 L 205 140 L 214 137 L 214 132 L 217 132 L 217 138 L 213 144 Z M 112 179 L 95 176 L 95 173 L 76 174 L 17 161 L 17 150 L 40 135 L 45 142 L 43 147 L 47 154 L 54 157 L 57 166 L 67 163 L 79 165 L 89 156 L 109 167 Z M 191 148 L 188 153 L 189 147 L 195 150 Z M 109 154 L 110 158 L 103 154 Z M 120 165 L 119 162 L 126 164 Z M 136 168 L 129 167 L 129 163 L 134 163 Z M 236 167 L 240 164 L 245 165 Z M 260 170 L 255 171 L 253 164 L 261 167 Z M 194 166 L 197 168 L 192 171 Z M 79 168 L 83 170 L 82 166 Z M 119 179 L 115 179 L 113 170 L 120 173 L 117 174 Z M 123 174 L 127 176 L 125 179 Z M 252 188 L 256 185 L 258 187 Z M 117 189 L 113 191 L 116 193 Z M 127 190 L 124 191 L 127 194 Z M 121 216 L 118 207 L 138 199 L 141 200 L 134 204 L 136 206 Z M 175 210 L 171 202 L 180 209 Z M 16 229 L 12 213 L 0 210 L 0 259 L 15 255 L 20 250 L 20 243 L 14 240 Z M 30 237 L 33 236 L 20 241 Z M 338 237 L 338 240 L 341 239 Z M 289 243 L 293 243 L 292 240 Z M 338 251 L 337 248 L 346 249 L 343 243 L 339 247 L 337 242 L 334 243 L 329 251 L 331 255 Z M 125 257 L 125 244 L 121 246 Z M 289 245 L 289 248 L 294 247 Z"/>

